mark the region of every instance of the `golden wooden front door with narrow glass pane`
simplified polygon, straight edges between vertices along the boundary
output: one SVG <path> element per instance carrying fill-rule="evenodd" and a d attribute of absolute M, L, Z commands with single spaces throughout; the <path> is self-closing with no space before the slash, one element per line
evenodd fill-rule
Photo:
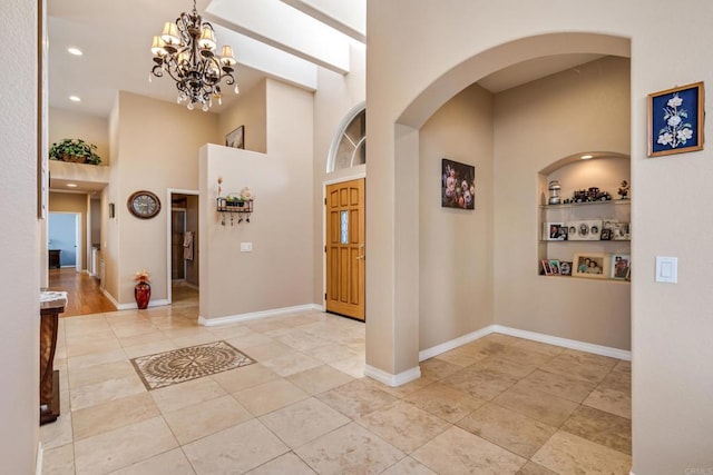
<path fill-rule="evenodd" d="M 326 311 L 364 319 L 364 179 L 326 187 Z"/>

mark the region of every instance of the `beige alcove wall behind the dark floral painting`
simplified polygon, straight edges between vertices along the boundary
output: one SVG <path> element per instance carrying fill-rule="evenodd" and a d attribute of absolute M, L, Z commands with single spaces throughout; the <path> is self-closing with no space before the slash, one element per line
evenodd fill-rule
<path fill-rule="evenodd" d="M 477 85 L 441 107 L 419 140 L 419 349 L 494 323 L 492 95 Z M 441 208 L 441 159 L 476 167 L 475 211 Z"/>

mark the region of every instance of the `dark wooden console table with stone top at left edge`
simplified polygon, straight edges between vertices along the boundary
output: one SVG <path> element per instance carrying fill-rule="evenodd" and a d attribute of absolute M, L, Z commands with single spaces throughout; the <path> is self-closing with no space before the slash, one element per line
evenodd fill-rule
<path fill-rule="evenodd" d="M 55 369 L 55 352 L 59 314 L 66 305 L 66 291 L 40 294 L 40 425 L 59 417 L 59 370 Z"/>

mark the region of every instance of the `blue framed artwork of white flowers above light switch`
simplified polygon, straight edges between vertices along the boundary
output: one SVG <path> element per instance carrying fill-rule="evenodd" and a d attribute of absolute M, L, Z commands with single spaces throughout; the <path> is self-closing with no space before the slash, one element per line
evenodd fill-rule
<path fill-rule="evenodd" d="M 648 156 L 703 149 L 703 82 L 648 95 Z"/>

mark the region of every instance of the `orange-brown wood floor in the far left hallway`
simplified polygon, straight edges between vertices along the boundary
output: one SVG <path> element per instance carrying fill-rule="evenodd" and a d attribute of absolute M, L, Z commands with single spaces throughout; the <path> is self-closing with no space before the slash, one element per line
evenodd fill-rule
<path fill-rule="evenodd" d="M 99 279 L 74 268 L 50 269 L 48 289 L 67 293 L 67 306 L 60 314 L 62 318 L 116 310 L 99 288 Z"/>

